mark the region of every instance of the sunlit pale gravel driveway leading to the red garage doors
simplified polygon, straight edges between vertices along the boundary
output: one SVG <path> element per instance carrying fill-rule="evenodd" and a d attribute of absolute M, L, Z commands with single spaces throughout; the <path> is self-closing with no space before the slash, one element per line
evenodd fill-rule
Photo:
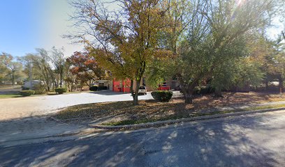
<path fill-rule="evenodd" d="M 180 93 L 175 91 L 174 96 Z M 152 99 L 152 95 L 141 95 L 139 100 Z M 75 93 L 66 95 L 45 95 L 38 97 L 18 97 L 0 100 L 0 121 L 31 116 L 43 116 L 57 109 L 76 104 L 96 102 L 116 102 L 132 100 L 130 93 L 101 91 L 98 93 Z"/>

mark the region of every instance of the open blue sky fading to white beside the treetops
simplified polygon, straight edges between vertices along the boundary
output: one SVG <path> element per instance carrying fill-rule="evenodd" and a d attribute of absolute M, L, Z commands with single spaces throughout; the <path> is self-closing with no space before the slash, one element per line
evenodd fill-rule
<path fill-rule="evenodd" d="M 66 56 L 70 56 L 82 49 L 61 38 L 71 29 L 67 22 L 71 13 L 67 0 L 1 0 L 0 9 L 0 52 L 24 56 L 38 47 L 48 50 L 55 46 L 64 47 Z M 271 38 L 281 31 L 283 25 L 277 24 L 279 27 L 268 31 Z"/>

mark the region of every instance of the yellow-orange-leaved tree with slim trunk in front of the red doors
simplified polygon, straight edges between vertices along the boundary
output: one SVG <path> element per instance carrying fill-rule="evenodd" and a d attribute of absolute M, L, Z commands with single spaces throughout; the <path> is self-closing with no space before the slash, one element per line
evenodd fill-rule
<path fill-rule="evenodd" d="M 171 23 L 167 1 L 116 1 L 118 10 L 108 10 L 101 1 L 73 1 L 73 19 L 80 38 L 96 61 L 116 79 L 131 79 L 133 104 L 138 104 L 138 89 L 149 62 L 168 54 L 159 48 L 159 32 Z"/>

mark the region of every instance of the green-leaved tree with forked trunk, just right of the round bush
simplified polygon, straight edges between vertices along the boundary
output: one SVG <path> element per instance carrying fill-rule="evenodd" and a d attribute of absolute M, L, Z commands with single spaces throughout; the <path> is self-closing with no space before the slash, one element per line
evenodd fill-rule
<path fill-rule="evenodd" d="M 192 103 L 198 81 L 220 71 L 221 61 L 236 55 L 224 54 L 242 36 L 268 23 L 274 1 L 194 1 L 192 24 L 180 45 L 175 71 L 185 95 Z M 220 89 L 221 87 L 219 87 Z"/>

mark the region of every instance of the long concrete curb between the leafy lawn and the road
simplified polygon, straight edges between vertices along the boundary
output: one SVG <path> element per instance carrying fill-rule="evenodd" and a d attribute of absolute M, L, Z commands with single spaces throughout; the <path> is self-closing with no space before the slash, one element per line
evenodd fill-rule
<path fill-rule="evenodd" d="M 275 108 L 275 109 L 261 109 L 261 110 L 254 110 L 254 111 L 238 111 L 234 113 L 222 113 L 222 114 L 215 114 L 212 116 L 198 116 L 192 118 L 181 118 L 177 120 L 161 120 L 156 122 L 147 122 L 141 124 L 133 124 L 133 125 L 117 125 L 117 126 L 107 126 L 107 125 L 96 125 L 96 124 L 89 124 L 89 127 L 95 127 L 99 129 L 131 129 L 131 128 L 145 128 L 145 127 L 155 127 L 155 126 L 163 126 L 168 124 L 175 124 L 180 122 L 190 122 L 196 120 L 210 120 L 212 118 L 225 118 L 230 116 L 241 116 L 250 113 L 265 113 L 269 111 L 280 111 L 285 110 L 285 107 Z"/>

